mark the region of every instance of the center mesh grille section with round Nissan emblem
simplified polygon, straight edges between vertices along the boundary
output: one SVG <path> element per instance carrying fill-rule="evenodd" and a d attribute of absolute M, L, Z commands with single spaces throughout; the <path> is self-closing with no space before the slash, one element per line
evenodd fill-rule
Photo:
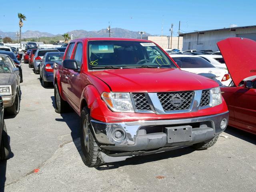
<path fill-rule="evenodd" d="M 194 96 L 193 91 L 164 92 L 157 94 L 164 111 L 189 109 Z M 175 102 L 176 99 L 176 102 Z"/>

